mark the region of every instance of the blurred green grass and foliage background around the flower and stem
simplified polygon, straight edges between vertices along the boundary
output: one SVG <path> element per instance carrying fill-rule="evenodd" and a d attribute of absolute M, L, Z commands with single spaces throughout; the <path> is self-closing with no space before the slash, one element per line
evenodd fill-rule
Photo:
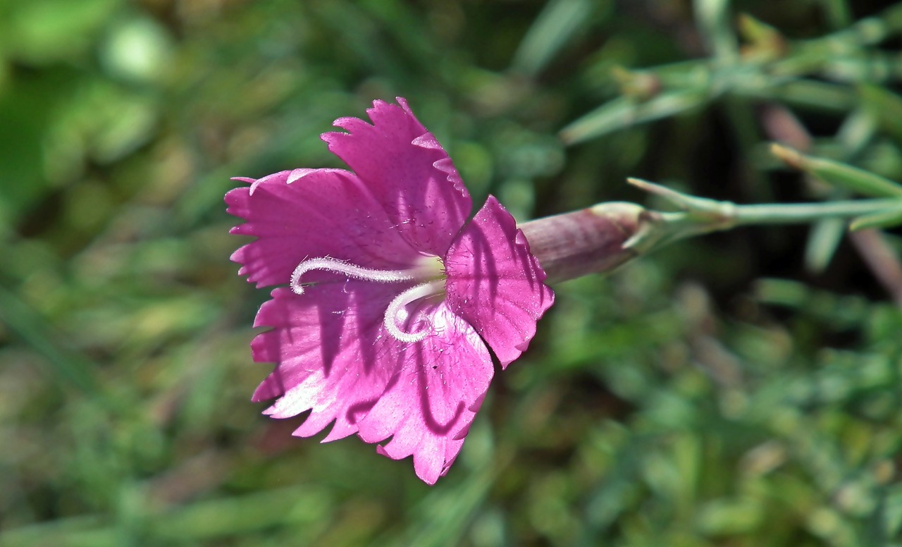
<path fill-rule="evenodd" d="M 481 204 L 902 180 L 902 5 L 0 1 L 0 545 L 900 545 L 892 231 L 752 227 L 555 287 L 435 487 L 250 403 L 232 176 L 407 97 Z"/>

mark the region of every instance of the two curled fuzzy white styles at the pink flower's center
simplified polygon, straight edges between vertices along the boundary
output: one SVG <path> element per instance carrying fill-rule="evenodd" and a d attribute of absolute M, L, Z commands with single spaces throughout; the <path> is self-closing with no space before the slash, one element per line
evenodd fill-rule
<path fill-rule="evenodd" d="M 291 273 L 290 287 L 295 294 L 302 295 L 305 287 L 300 278 L 304 273 L 315 270 L 339 273 L 350 279 L 359 281 L 372 281 L 375 283 L 402 283 L 406 281 L 420 281 L 396 296 L 385 309 L 382 324 L 392 337 L 401 342 L 419 342 L 429 335 L 430 329 L 422 329 L 417 332 L 407 332 L 400 328 L 398 314 L 411 302 L 422 298 L 428 298 L 445 291 L 445 266 L 437 256 L 425 257 L 421 264 L 409 270 L 376 270 L 364 268 L 356 264 L 347 263 L 337 258 L 323 256 L 309 258 L 301 261 L 298 267 Z"/>

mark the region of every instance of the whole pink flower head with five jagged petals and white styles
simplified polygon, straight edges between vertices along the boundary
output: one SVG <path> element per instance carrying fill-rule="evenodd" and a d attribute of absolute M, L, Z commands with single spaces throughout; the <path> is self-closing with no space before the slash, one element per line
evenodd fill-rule
<path fill-rule="evenodd" d="M 454 462 L 489 382 L 520 357 L 554 301 L 514 219 L 472 201 L 436 138 L 410 112 L 375 101 L 370 125 L 341 118 L 329 150 L 353 172 L 296 169 L 226 194 L 256 236 L 232 260 L 272 292 L 253 359 L 276 363 L 253 401 L 324 441 L 356 433 L 392 459 L 413 456 L 434 484 Z M 486 347 L 488 346 L 488 348 Z"/>

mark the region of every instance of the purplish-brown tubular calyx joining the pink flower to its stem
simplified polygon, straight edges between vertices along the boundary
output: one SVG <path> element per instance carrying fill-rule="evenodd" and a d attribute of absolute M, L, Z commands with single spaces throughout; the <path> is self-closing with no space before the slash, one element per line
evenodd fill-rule
<path fill-rule="evenodd" d="M 659 214 L 634 203 L 600 203 L 589 209 L 520 225 L 529 250 L 548 273 L 547 283 L 607 272 L 644 251 L 643 236 Z"/>

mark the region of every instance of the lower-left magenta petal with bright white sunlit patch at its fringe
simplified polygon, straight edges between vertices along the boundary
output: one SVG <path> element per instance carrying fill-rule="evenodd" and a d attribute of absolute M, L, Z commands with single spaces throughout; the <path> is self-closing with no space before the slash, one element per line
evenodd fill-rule
<path fill-rule="evenodd" d="M 374 283 L 323 284 L 302 296 L 272 292 L 255 326 L 272 327 L 253 339 L 253 359 L 278 365 L 253 401 L 279 399 L 265 411 L 287 418 L 311 411 L 295 431 L 308 437 L 335 426 L 326 440 L 357 431 L 400 362 L 398 340 L 382 335 L 382 312 L 392 287 Z"/>

